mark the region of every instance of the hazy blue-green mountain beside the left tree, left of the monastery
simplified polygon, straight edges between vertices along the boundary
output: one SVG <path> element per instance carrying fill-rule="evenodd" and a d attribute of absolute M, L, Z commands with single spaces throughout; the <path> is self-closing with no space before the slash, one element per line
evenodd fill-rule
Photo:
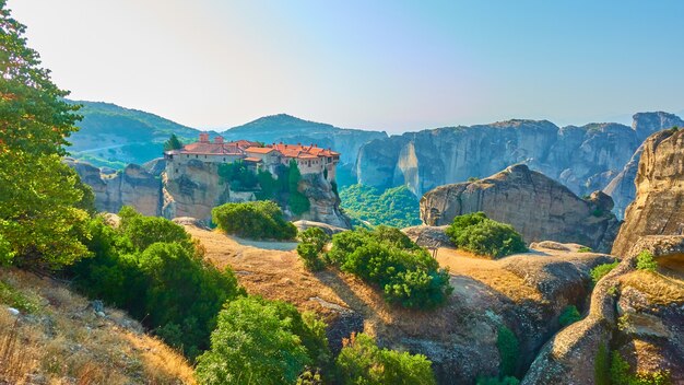
<path fill-rule="evenodd" d="M 70 138 L 73 158 L 97 166 L 123 168 L 161 156 L 163 143 L 172 133 L 181 140 L 197 138 L 199 130 L 154 114 L 102 102 L 72 102 L 83 107 L 80 130 Z"/>

